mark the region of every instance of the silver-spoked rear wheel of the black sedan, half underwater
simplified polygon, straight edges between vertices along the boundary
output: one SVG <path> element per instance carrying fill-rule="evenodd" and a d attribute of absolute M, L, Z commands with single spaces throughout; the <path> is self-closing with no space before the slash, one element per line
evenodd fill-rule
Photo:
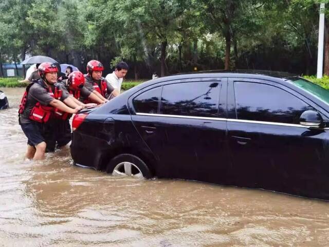
<path fill-rule="evenodd" d="M 114 176 L 126 175 L 145 179 L 152 177 L 150 169 L 139 157 L 127 153 L 112 158 L 106 167 L 106 172 Z"/>

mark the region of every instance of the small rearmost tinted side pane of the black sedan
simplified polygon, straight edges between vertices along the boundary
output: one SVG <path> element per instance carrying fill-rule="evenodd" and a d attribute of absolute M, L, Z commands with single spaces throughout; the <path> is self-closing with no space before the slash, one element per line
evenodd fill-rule
<path fill-rule="evenodd" d="M 159 98 L 162 87 L 148 90 L 133 100 L 135 111 L 138 113 L 158 113 Z"/>

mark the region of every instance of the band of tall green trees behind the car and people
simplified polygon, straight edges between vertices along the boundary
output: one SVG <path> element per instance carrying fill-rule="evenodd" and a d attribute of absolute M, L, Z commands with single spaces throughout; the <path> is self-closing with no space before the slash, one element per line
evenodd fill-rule
<path fill-rule="evenodd" d="M 80 69 L 97 59 L 106 71 L 124 60 L 129 76 L 150 78 L 221 69 L 229 54 L 232 68 L 314 74 L 320 2 L 2 0 L 0 63 L 47 55 Z"/>

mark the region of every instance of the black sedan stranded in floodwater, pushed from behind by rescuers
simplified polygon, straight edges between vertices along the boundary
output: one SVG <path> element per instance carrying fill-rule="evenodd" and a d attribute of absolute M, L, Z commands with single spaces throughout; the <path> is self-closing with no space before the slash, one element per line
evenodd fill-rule
<path fill-rule="evenodd" d="M 162 77 L 81 111 L 72 127 L 77 165 L 329 200 L 329 91 L 297 76 Z"/>

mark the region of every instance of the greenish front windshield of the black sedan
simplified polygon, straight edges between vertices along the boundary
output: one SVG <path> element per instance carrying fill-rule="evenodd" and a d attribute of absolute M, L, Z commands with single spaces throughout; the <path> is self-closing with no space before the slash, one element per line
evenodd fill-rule
<path fill-rule="evenodd" d="M 289 82 L 295 84 L 329 105 L 329 90 L 326 90 L 323 87 L 300 77 L 291 78 L 289 79 Z"/>

